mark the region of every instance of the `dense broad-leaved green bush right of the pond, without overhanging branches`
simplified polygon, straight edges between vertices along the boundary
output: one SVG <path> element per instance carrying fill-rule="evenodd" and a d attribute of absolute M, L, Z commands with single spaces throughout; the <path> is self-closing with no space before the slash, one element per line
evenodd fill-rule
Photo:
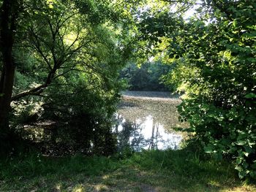
<path fill-rule="evenodd" d="M 232 20 L 219 18 L 208 25 L 191 21 L 200 33 L 198 39 L 190 40 L 193 47 L 186 50 L 186 58 L 200 75 L 180 81 L 187 83 L 188 97 L 179 108 L 206 153 L 219 158 L 231 155 L 239 177 L 253 179 L 256 178 L 255 6 L 239 1 L 227 9 L 236 15 Z M 220 14 L 218 11 L 214 13 Z"/>

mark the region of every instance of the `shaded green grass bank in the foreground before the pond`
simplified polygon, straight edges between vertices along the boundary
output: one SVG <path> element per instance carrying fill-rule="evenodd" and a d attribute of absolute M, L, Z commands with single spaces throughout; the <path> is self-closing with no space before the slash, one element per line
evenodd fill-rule
<path fill-rule="evenodd" d="M 117 158 L 23 155 L 0 161 L 0 191 L 256 191 L 233 165 L 188 149 Z"/>

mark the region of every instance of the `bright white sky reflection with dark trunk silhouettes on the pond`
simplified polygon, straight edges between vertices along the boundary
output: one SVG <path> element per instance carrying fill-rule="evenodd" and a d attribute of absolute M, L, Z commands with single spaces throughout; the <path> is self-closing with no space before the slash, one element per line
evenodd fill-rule
<path fill-rule="evenodd" d="M 165 150 L 178 149 L 182 136 L 176 132 L 168 133 L 157 118 L 152 115 L 126 120 L 121 114 L 116 114 L 116 126 L 113 128 L 118 138 L 121 150 L 130 146 L 135 151 L 142 149 Z"/>

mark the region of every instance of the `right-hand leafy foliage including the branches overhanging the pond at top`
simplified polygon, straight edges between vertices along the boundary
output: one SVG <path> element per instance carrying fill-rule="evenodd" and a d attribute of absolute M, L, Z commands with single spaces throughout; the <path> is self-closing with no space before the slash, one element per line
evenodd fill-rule
<path fill-rule="evenodd" d="M 206 153 L 234 158 L 239 177 L 255 179 L 255 1 L 207 1 L 190 20 L 166 23 L 170 14 L 139 24 L 167 38 L 162 54 L 176 68 L 167 82 L 186 95 L 178 107 Z M 162 19 L 165 18 L 165 19 Z M 175 18 L 174 18 L 175 19 Z M 145 29 L 143 29 L 145 30 Z M 142 31 L 143 32 L 143 31 Z"/>

